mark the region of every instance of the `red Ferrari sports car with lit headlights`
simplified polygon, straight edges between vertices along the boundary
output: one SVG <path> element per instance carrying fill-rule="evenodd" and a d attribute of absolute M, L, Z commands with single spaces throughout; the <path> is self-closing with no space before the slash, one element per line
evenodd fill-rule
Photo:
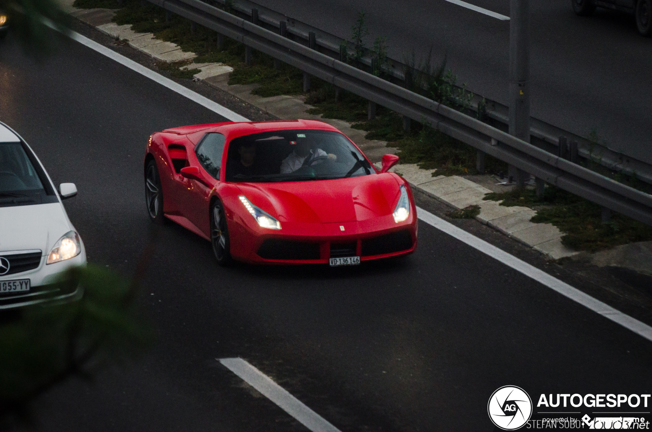
<path fill-rule="evenodd" d="M 417 215 L 408 183 L 376 169 L 321 121 L 214 123 L 149 137 L 145 198 L 232 260 L 331 266 L 412 253 Z"/>

